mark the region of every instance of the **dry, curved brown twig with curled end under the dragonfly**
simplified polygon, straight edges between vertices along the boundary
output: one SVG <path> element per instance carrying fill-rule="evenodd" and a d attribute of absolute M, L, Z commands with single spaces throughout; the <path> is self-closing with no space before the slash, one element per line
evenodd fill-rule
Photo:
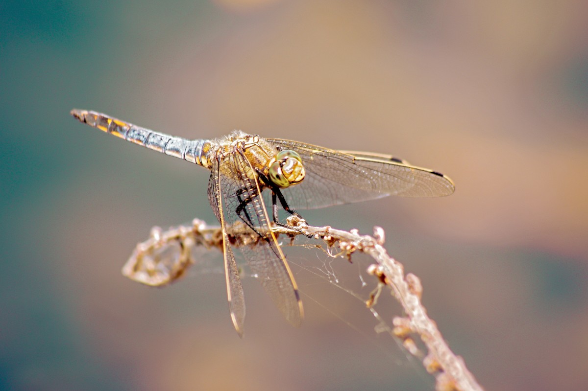
<path fill-rule="evenodd" d="M 329 247 L 338 245 L 342 255 L 350 258 L 354 252 L 363 252 L 372 257 L 376 263 L 370 265 L 368 273 L 375 276 L 379 288 L 387 286 L 392 295 L 402 305 L 405 316 L 393 319 L 393 334 L 400 338 L 405 348 L 416 358 L 422 359 L 427 372 L 435 376 L 436 390 L 482 390 L 472 373 L 467 370 L 465 362 L 456 356 L 447 346 L 447 342 L 437 329 L 436 323 L 427 316 L 423 306 L 422 285 L 413 274 L 404 274 L 402 264 L 391 258 L 383 244 L 385 234 L 382 228 L 374 227 L 373 236 L 359 235 L 357 230 L 342 231 L 331 227 L 312 227 L 296 216 L 288 219 L 290 230 L 286 227 L 274 227 L 276 233 L 291 238 L 296 235 L 312 235 L 316 240 L 323 240 Z M 230 228 L 229 239 L 236 247 L 256 245 L 259 240 L 250 230 L 236 225 Z M 142 284 L 162 286 L 170 284 L 185 274 L 192 264 L 191 250 L 195 246 L 218 248 L 222 251 L 222 234 L 220 227 L 209 227 L 201 220 L 194 220 L 192 227 L 177 227 L 162 232 L 155 227 L 149 240 L 139 243 L 122 269 L 123 275 Z M 372 306 L 381 289 L 370 295 L 366 305 Z M 417 348 L 414 336 L 418 335 L 427 348 L 423 355 Z"/>

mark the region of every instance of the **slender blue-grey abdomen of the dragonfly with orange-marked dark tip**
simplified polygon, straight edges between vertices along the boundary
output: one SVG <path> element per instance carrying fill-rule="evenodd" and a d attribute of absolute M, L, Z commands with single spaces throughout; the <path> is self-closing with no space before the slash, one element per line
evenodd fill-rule
<path fill-rule="evenodd" d="M 209 168 L 206 152 L 210 149 L 208 140 L 188 140 L 182 137 L 155 132 L 132 123 L 124 122 L 106 114 L 88 110 L 74 109 L 70 112 L 80 122 L 86 123 L 102 132 L 113 134 L 145 148 L 178 157 Z"/>

